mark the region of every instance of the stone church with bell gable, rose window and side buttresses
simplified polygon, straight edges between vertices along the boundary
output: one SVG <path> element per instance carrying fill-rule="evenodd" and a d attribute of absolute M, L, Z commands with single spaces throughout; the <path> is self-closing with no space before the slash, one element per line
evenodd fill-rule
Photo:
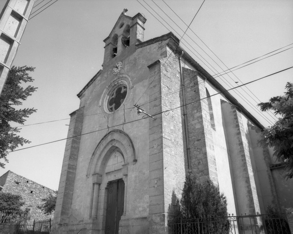
<path fill-rule="evenodd" d="M 168 233 L 188 169 L 211 178 L 230 214 L 293 207 L 257 144 L 263 126 L 174 34 L 144 41 L 145 22 L 120 15 L 103 70 L 77 95 L 51 233 Z"/>

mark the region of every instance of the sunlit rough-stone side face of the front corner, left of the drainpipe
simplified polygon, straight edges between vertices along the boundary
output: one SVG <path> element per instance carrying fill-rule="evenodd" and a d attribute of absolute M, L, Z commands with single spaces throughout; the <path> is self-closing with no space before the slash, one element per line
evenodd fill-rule
<path fill-rule="evenodd" d="M 176 200 L 180 200 L 185 181 L 186 145 L 179 59 L 167 47 L 168 59 L 161 67 L 161 105 L 163 137 L 164 206 L 166 227 L 173 219 Z M 184 139 L 183 139 L 184 138 Z"/>

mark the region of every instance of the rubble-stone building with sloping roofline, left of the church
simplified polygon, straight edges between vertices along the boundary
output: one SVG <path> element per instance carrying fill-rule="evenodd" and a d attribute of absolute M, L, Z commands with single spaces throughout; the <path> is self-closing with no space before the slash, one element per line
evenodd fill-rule
<path fill-rule="evenodd" d="M 0 176 L 0 190 L 0 193 L 21 195 L 25 202 L 23 209 L 30 209 L 30 220 L 53 219 L 54 212 L 52 214 L 44 214 L 39 207 L 44 203 L 42 199 L 47 198 L 50 194 L 56 194 L 54 190 L 12 171 L 7 171 Z"/>

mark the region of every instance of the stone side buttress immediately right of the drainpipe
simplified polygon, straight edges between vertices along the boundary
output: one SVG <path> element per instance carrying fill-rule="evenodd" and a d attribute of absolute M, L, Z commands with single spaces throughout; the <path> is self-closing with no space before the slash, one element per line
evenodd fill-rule
<path fill-rule="evenodd" d="M 186 103 L 191 103 L 186 105 L 188 140 L 190 142 L 190 169 L 200 181 L 210 178 L 215 184 L 218 184 L 205 82 L 197 74 L 196 71 L 183 68 Z"/>

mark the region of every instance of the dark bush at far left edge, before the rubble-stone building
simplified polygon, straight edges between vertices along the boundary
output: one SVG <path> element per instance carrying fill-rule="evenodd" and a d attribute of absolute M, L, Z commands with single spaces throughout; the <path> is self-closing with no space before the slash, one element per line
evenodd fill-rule
<path fill-rule="evenodd" d="M 0 211 L 5 211 L 6 213 L 21 213 L 22 206 L 24 202 L 22 201 L 21 195 L 15 195 L 12 193 L 0 192 Z"/>

